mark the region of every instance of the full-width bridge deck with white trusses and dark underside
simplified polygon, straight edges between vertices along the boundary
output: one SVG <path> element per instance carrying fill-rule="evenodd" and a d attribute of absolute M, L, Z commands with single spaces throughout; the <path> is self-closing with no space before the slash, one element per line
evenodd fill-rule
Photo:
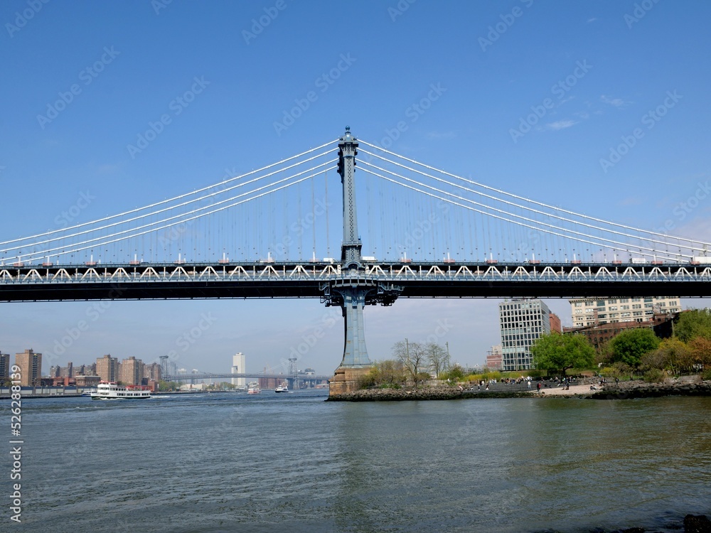
<path fill-rule="evenodd" d="M 342 269 L 338 262 L 0 266 L 0 301 L 178 298 L 327 301 L 331 289 L 354 285 L 373 288 L 366 303 L 385 305 L 395 297 L 700 297 L 711 296 L 711 264 L 363 262 L 363 269 Z M 390 294 L 397 296 L 387 296 Z"/>

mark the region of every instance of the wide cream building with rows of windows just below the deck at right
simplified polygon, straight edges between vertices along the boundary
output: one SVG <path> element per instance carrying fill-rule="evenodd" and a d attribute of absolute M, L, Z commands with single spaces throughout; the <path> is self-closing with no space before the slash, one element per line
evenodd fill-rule
<path fill-rule="evenodd" d="M 640 298 L 574 298 L 570 311 L 574 328 L 615 322 L 651 321 L 655 313 L 679 313 L 678 296 Z"/>

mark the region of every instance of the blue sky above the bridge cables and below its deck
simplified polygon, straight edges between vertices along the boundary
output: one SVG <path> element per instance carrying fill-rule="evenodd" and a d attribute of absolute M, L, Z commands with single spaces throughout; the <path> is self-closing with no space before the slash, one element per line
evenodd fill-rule
<path fill-rule="evenodd" d="M 346 124 L 526 197 L 707 239 L 710 15 L 706 3 L 669 0 L 6 1 L 0 239 L 209 185 L 336 139 Z M 422 99 L 427 109 L 415 107 Z M 132 151 L 163 115 L 155 139 Z M 570 323 L 566 301 L 549 303 Z M 4 304 L 0 350 L 53 353 L 45 371 L 171 350 L 183 367 L 227 370 L 242 351 L 260 370 L 319 331 L 299 366 L 331 373 L 341 360 L 340 319 L 318 301 L 92 305 Z M 368 348 L 382 359 L 397 340 L 435 335 L 456 360 L 483 362 L 496 314 L 493 300 L 367 308 Z"/>

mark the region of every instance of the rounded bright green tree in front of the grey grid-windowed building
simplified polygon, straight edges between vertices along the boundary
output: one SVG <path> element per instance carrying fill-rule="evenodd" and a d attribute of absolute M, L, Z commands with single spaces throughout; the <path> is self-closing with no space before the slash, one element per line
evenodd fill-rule
<path fill-rule="evenodd" d="M 543 334 L 531 346 L 533 364 L 538 370 L 591 367 L 595 349 L 583 335 Z"/>

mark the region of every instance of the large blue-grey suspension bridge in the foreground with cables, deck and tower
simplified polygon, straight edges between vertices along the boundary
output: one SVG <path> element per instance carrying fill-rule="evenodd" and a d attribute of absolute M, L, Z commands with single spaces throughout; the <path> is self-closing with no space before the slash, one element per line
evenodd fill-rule
<path fill-rule="evenodd" d="M 370 366 L 366 305 L 711 296 L 708 247 L 523 198 L 347 127 L 191 193 L 0 242 L 0 301 L 320 298 L 341 307 L 345 324 L 333 393 Z"/>

